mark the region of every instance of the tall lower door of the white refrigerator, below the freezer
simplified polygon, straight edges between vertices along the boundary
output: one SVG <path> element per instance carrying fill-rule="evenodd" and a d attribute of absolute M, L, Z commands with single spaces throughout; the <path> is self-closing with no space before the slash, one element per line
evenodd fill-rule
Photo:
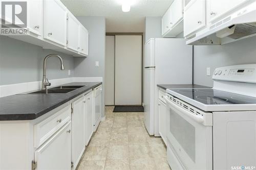
<path fill-rule="evenodd" d="M 154 68 L 144 69 L 144 124 L 150 135 L 154 135 L 154 74 Z"/>

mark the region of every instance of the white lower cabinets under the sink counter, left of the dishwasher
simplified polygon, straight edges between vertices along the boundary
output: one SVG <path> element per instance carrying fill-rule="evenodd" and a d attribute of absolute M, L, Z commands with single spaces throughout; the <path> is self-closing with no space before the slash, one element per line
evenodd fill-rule
<path fill-rule="evenodd" d="M 94 132 L 93 100 L 91 90 L 36 119 L 0 121 L 0 169 L 76 169 Z"/>

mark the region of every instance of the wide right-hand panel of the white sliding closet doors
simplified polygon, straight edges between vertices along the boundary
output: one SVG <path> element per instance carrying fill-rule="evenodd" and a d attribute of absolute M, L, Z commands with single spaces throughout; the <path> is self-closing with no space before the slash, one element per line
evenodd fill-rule
<path fill-rule="evenodd" d="M 116 35 L 115 105 L 142 104 L 142 36 Z"/>

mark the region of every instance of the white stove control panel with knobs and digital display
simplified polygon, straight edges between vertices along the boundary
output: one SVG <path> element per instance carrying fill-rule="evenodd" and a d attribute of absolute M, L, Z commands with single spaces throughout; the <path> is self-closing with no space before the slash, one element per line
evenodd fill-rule
<path fill-rule="evenodd" d="M 216 68 L 212 79 L 256 83 L 256 64 L 231 65 Z"/>

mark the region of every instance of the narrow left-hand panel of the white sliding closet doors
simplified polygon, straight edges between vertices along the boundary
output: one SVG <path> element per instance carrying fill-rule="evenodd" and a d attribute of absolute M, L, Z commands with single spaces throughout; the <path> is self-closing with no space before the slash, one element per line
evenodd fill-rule
<path fill-rule="evenodd" d="M 105 105 L 114 105 L 115 36 L 106 36 L 105 41 Z"/>

